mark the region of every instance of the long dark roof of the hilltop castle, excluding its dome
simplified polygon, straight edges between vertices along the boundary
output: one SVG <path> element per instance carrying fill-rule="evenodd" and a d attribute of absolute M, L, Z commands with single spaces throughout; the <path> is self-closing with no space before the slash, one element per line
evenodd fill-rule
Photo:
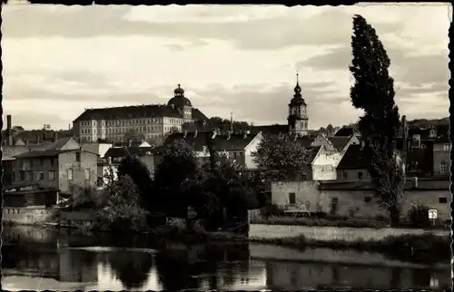
<path fill-rule="evenodd" d="M 206 118 L 206 116 L 197 109 L 192 109 L 192 114 L 194 120 L 197 120 L 197 118 Z M 182 114 L 176 108 L 169 105 L 144 104 L 114 108 L 87 109 L 81 113 L 74 120 L 74 122 L 99 119 L 116 120 L 148 117 L 181 118 Z"/>

